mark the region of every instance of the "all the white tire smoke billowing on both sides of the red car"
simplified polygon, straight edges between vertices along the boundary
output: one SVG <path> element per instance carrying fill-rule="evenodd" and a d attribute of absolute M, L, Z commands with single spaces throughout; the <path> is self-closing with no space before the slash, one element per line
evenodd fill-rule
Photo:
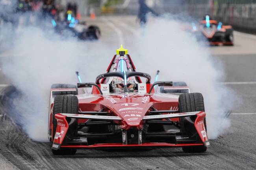
<path fill-rule="evenodd" d="M 76 70 L 83 81 L 95 81 L 98 74 L 106 71 L 118 47 L 102 41 L 63 40 L 37 27 L 25 27 L 20 32 L 12 46 L 13 57 L 3 63 L 3 71 L 24 93 L 15 101 L 20 112 L 13 116 L 29 137 L 44 141 L 51 84 L 76 84 Z M 128 49 L 138 71 L 153 76 L 160 69 L 160 80 L 186 81 L 193 92 L 204 95 L 211 139 L 224 132 L 230 124 L 224 113 L 232 107 L 232 101 L 224 100 L 230 90 L 215 84 L 223 80 L 223 69 L 193 35 L 182 29 L 180 22 L 154 20 L 143 35 L 125 40 L 132 42 Z"/>

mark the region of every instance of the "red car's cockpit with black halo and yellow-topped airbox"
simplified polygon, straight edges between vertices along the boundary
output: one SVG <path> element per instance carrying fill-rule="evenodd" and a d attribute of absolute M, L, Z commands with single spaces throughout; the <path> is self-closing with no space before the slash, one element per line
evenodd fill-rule
<path fill-rule="evenodd" d="M 146 83 L 143 83 L 141 78 Z M 98 75 L 96 84 L 91 83 L 94 85 L 92 93 L 147 93 L 150 89 L 150 79 L 151 76 L 147 73 L 136 72 L 130 56 L 127 54 L 127 49 L 122 48 L 121 45 L 121 48 L 117 49 L 117 55 L 113 57 L 107 73 Z"/>

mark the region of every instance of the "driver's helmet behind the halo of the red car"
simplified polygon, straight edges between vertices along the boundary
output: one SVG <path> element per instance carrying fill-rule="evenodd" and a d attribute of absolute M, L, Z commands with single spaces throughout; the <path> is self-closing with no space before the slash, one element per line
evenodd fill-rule
<path fill-rule="evenodd" d="M 131 77 L 126 81 L 128 92 L 134 92 L 135 81 Z M 113 93 L 123 93 L 124 92 L 124 80 L 120 77 L 113 78 L 112 84 Z"/>

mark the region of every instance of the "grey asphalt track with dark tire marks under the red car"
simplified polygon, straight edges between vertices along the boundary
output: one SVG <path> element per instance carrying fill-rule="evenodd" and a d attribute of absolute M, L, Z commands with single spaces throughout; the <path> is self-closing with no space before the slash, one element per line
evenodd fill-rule
<path fill-rule="evenodd" d="M 134 17 L 102 17 L 94 21 L 102 29 L 102 41 L 125 41 L 124 34 L 134 34 Z M 113 27 L 114 26 L 114 27 Z M 222 60 L 226 81 L 242 104 L 232 110 L 231 126 L 226 133 L 211 140 L 211 148 L 200 154 L 186 154 L 180 148 L 152 150 L 78 150 L 76 155 L 57 156 L 50 143 L 29 139 L 9 118 L 6 87 L 10 81 L 0 73 L 0 170 L 86 170 L 86 169 L 255 169 L 256 167 L 256 36 L 235 32 L 234 47 L 210 47 Z M 8 54 L 1 54 L 4 60 Z M 1 72 L 1 71 L 0 71 Z"/>

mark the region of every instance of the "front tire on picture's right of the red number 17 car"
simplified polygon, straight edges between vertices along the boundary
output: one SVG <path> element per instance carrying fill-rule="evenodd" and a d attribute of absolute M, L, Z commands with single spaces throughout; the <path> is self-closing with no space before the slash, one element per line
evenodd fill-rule
<path fill-rule="evenodd" d="M 184 112 L 204 112 L 204 97 L 201 93 L 184 93 L 179 97 L 179 110 L 180 113 Z M 183 124 L 183 119 L 180 118 L 181 131 L 185 131 Z M 204 119 L 205 128 L 206 120 Z M 195 152 L 205 152 L 207 150 L 206 146 L 186 146 L 182 147 L 182 150 L 186 153 L 195 153 Z"/>

